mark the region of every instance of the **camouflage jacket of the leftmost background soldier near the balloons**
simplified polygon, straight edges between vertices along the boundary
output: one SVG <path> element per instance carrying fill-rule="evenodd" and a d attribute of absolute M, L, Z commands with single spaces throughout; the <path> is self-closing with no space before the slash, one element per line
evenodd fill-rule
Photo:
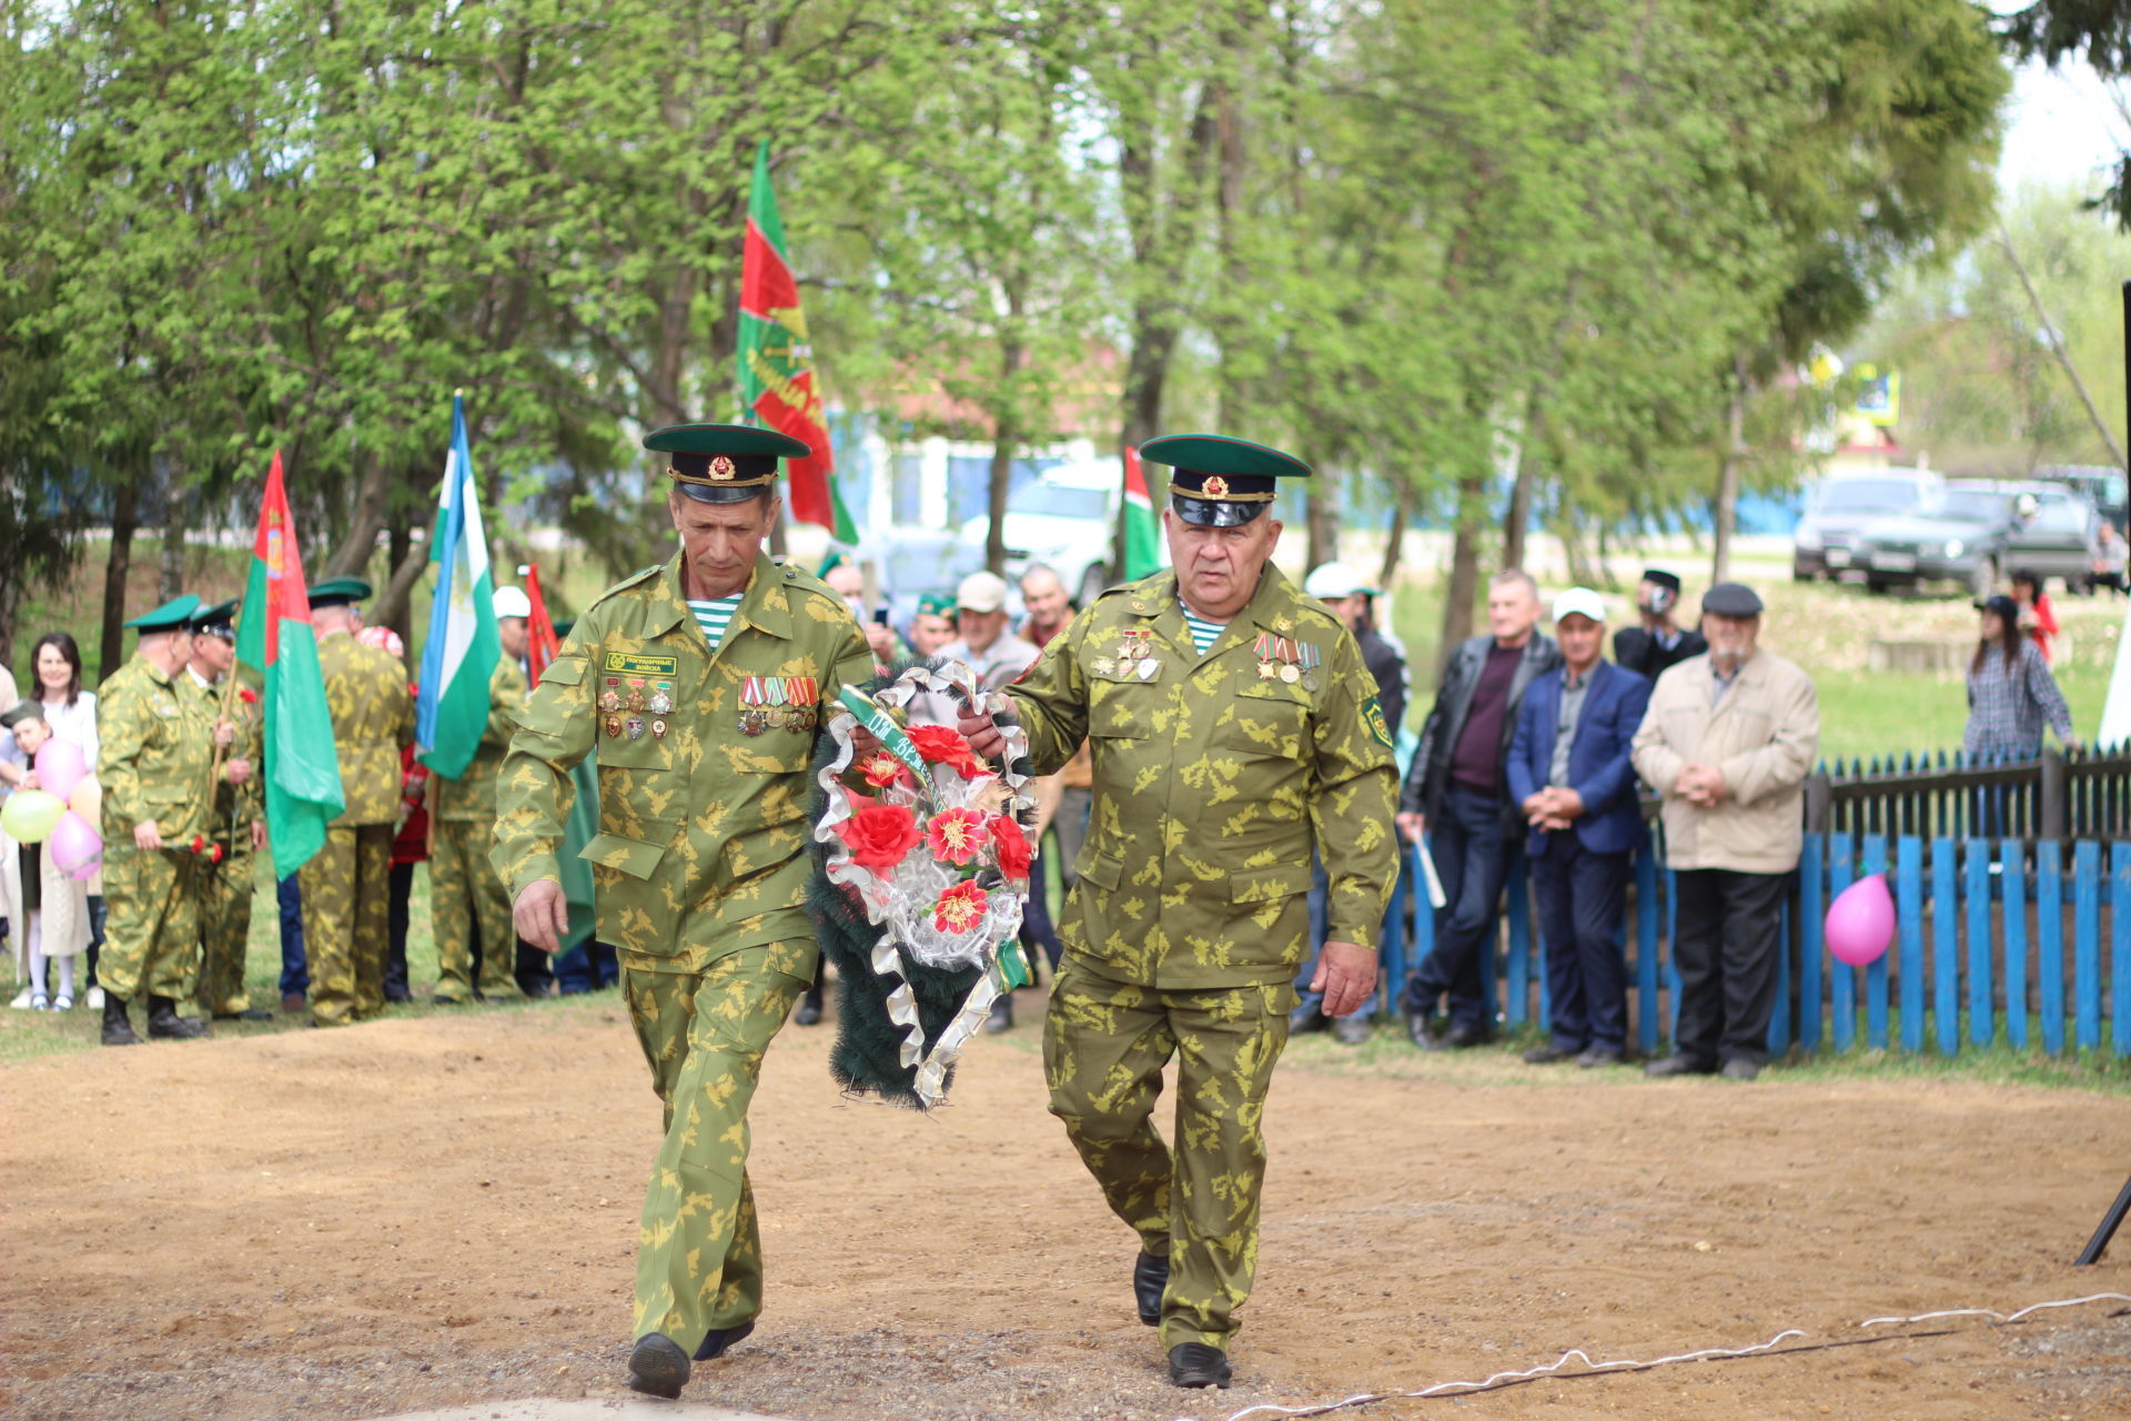
<path fill-rule="evenodd" d="M 132 846 L 134 824 L 143 820 L 156 820 L 173 848 L 207 829 L 213 741 L 198 697 L 134 656 L 96 688 L 96 741 L 104 844 Z"/>

